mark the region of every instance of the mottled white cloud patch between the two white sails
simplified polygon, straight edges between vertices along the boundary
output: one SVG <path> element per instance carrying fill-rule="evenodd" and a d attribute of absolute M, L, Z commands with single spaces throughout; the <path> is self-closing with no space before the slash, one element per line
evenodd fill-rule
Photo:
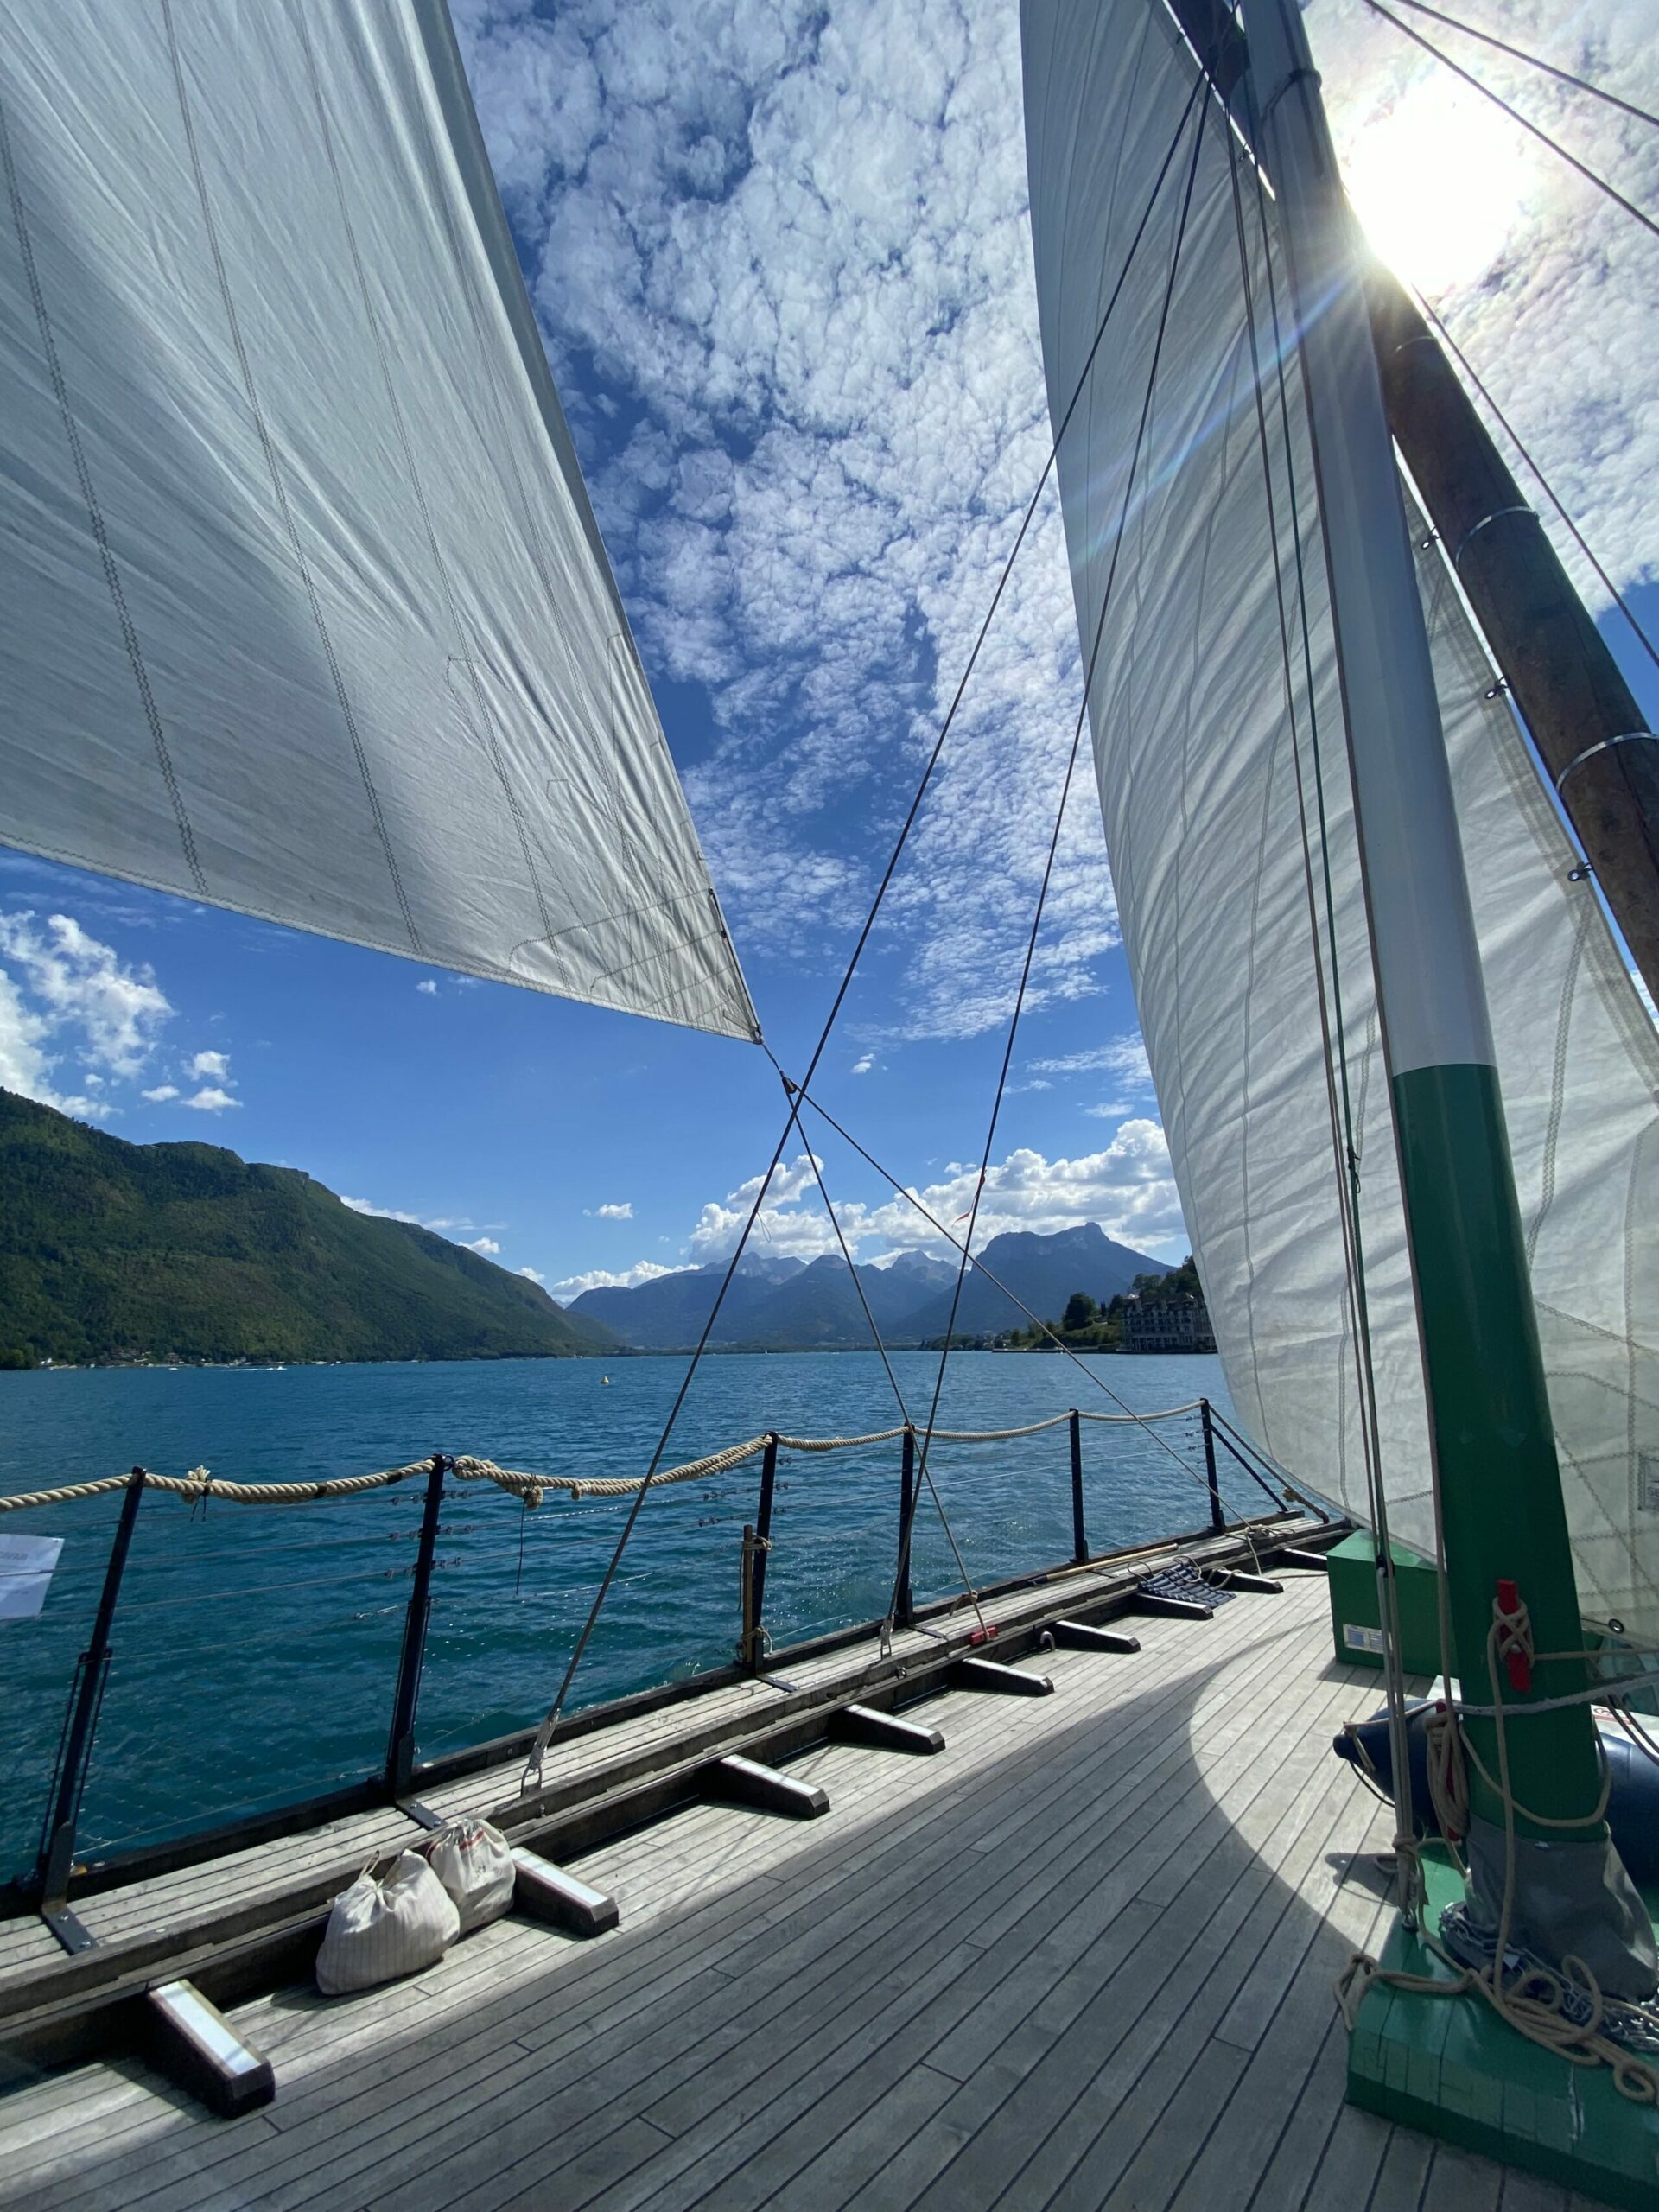
<path fill-rule="evenodd" d="M 648 0 L 549 24 L 473 0 L 460 31 L 555 363 L 639 409 L 595 498 L 648 659 L 710 686 L 686 781 L 739 940 L 818 960 L 869 898 L 1048 445 L 1018 11 Z M 1006 1015 L 1075 668 L 1048 511 L 894 889 L 909 1035 Z M 1031 1004 L 1091 991 L 1117 938 L 1093 799 L 1051 920 Z"/>

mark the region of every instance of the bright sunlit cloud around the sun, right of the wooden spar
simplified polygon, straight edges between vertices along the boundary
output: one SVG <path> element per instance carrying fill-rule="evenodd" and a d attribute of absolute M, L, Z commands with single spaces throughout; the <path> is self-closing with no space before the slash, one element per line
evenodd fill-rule
<path fill-rule="evenodd" d="M 1509 0 L 1500 13 L 1517 46 L 1655 106 L 1659 42 L 1646 0 L 1595 0 L 1575 15 L 1553 0 Z M 1652 239 L 1363 0 L 1316 0 L 1307 29 L 1378 248 L 1427 288 L 1613 577 L 1652 580 Z M 1455 31 L 1418 29 L 1637 206 L 1659 204 L 1659 133 Z M 1522 487 L 1531 500 L 1533 484 Z M 1604 588 L 1542 498 L 1540 513 L 1579 591 L 1604 608 Z"/>

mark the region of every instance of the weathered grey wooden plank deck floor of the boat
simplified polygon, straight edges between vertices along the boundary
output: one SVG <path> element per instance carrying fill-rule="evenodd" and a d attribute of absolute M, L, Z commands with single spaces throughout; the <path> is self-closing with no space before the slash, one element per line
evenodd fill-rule
<path fill-rule="evenodd" d="M 520 1920 L 349 2000 L 239 2006 L 276 2101 L 137 2062 L 0 2097 L 0 2203 L 398 2212 L 1584 2203 L 1343 2106 L 1332 1978 L 1380 1940 L 1387 1816 L 1329 1754 L 1376 1677 L 1323 1575 L 1051 1699 L 949 1690 L 936 1759 L 830 1745 L 790 1823 L 697 1805 L 580 1863 L 622 1929 Z"/>

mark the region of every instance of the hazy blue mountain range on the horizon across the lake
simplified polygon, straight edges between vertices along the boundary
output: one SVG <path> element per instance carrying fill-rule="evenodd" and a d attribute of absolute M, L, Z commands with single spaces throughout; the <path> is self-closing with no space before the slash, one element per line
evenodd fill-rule
<path fill-rule="evenodd" d="M 599 1323 L 639 1352 L 679 1352 L 695 1345 L 714 1303 L 726 1263 L 661 1274 L 633 1290 L 586 1290 L 566 1312 Z M 951 1318 L 956 1265 L 927 1252 L 900 1252 L 880 1267 L 856 1270 L 869 1312 L 885 1343 L 918 1345 L 942 1336 Z M 1040 1237 L 1011 1230 L 993 1237 L 969 1270 L 956 1332 L 982 1336 L 1018 1329 L 1026 1314 L 1053 1321 L 1073 1290 L 1106 1303 L 1128 1290 L 1137 1274 L 1164 1274 L 1164 1261 L 1115 1243 L 1095 1221 Z M 991 1281 L 1015 1294 L 1004 1296 Z M 841 1256 L 814 1261 L 745 1256 L 721 1305 L 710 1345 L 757 1352 L 843 1352 L 869 1345 L 858 1292 Z"/>

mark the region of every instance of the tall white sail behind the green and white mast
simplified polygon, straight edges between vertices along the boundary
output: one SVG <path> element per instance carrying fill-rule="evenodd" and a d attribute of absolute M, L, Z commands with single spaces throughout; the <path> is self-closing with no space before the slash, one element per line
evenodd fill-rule
<path fill-rule="evenodd" d="M 1057 422 L 1197 69 L 1159 0 L 1026 0 L 1024 75 Z M 1228 133 L 1206 108 L 1088 699 L 1106 843 L 1228 1387 L 1292 1475 L 1367 1520 L 1321 1024 L 1321 998 L 1332 1029 L 1340 1002 L 1345 1051 L 1332 1037 L 1329 1057 L 1347 1062 L 1360 1161 L 1380 1464 L 1396 1537 L 1431 1553 L 1427 1409 L 1307 425 L 1294 341 L 1274 321 L 1285 288 L 1272 204 L 1241 157 L 1234 206 Z M 1192 126 L 1060 453 L 1086 659 L 1190 150 Z M 1427 529 L 1413 535 L 1579 1597 L 1593 1617 L 1659 1635 L 1659 1033 L 1588 883 L 1573 880 L 1573 845 L 1444 553 Z M 1389 885 L 1371 894 L 1383 900 Z M 1336 1121 L 1340 1146 L 1340 1095 Z M 1504 1500 L 1491 1506 L 1502 1513 Z"/>

